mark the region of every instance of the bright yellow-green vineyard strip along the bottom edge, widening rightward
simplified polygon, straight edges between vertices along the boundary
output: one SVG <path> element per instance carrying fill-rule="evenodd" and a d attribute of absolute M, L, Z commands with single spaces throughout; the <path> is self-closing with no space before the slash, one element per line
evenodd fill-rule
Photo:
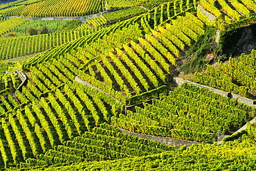
<path fill-rule="evenodd" d="M 127 168 L 134 170 L 179 170 L 181 168 L 183 170 L 197 170 L 199 168 L 207 170 L 216 168 L 220 170 L 237 170 L 239 168 L 254 170 L 255 143 L 250 136 L 243 136 L 243 140 L 238 138 L 236 141 L 230 141 L 223 145 L 192 145 L 188 148 L 183 147 L 161 154 L 136 156 L 115 161 L 82 162 L 75 165 L 44 168 L 44 170 L 79 170 L 80 168 L 84 170 L 125 170 Z"/>

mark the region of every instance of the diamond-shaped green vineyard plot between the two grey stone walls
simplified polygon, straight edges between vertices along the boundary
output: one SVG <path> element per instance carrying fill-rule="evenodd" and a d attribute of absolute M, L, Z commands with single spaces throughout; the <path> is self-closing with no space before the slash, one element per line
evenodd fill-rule
<path fill-rule="evenodd" d="M 169 95 L 113 117 L 112 123 L 132 132 L 212 142 L 217 132 L 232 132 L 255 117 L 255 108 L 190 84 L 182 84 Z"/>

